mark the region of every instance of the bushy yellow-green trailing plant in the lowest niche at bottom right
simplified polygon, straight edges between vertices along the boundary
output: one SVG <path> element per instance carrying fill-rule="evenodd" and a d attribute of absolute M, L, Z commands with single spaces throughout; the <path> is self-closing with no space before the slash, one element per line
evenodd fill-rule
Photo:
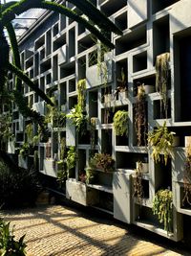
<path fill-rule="evenodd" d="M 159 190 L 153 201 L 153 213 L 163 223 L 164 230 L 172 231 L 173 225 L 173 194 L 168 189 Z"/>

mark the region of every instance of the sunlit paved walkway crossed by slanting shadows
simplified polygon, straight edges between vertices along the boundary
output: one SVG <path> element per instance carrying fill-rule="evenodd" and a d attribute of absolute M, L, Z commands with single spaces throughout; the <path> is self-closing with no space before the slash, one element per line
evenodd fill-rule
<path fill-rule="evenodd" d="M 125 224 L 66 206 L 11 211 L 4 217 L 15 224 L 16 236 L 26 234 L 27 252 L 32 256 L 188 255 L 153 244 L 148 237 L 141 239 Z"/>

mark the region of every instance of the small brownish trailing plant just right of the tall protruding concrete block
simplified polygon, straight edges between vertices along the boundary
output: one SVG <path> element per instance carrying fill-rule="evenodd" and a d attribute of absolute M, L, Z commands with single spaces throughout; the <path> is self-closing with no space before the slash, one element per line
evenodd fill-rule
<path fill-rule="evenodd" d="M 135 176 L 134 176 L 134 195 L 133 197 L 138 198 L 138 202 L 140 203 L 142 201 L 142 198 L 144 197 L 143 192 L 143 186 L 142 186 L 142 173 L 140 170 L 140 165 L 138 165 L 137 169 L 135 170 Z"/>

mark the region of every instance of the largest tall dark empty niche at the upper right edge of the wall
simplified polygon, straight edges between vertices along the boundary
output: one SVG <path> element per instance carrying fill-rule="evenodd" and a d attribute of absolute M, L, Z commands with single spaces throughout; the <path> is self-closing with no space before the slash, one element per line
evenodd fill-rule
<path fill-rule="evenodd" d="M 176 121 L 191 121 L 191 30 L 174 37 L 175 116 Z"/>

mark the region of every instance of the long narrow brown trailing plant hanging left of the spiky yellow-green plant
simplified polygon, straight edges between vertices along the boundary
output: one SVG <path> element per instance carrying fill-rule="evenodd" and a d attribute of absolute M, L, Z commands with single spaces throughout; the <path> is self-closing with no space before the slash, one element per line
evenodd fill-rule
<path fill-rule="evenodd" d="M 138 146 L 145 146 L 147 144 L 147 118 L 144 84 L 138 85 L 138 96 L 135 104 L 135 127 L 138 139 Z"/>

